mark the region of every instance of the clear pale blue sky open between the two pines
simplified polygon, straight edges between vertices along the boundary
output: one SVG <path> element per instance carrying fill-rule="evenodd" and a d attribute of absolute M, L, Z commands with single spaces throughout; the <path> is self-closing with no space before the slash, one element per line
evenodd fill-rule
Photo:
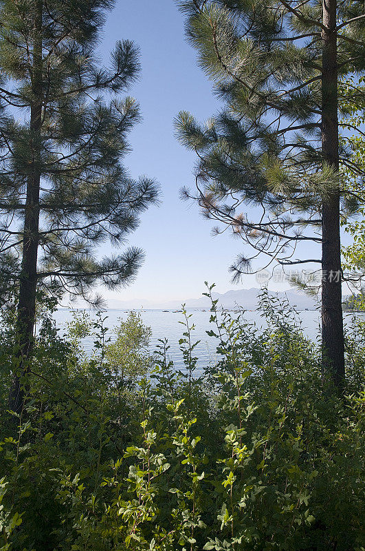
<path fill-rule="evenodd" d="M 219 110 L 211 83 L 184 37 L 184 17 L 174 0 L 118 0 L 102 33 L 104 59 L 118 39 L 135 41 L 142 62 L 141 79 L 131 94 L 140 102 L 144 120 L 131 133 L 133 151 L 125 165 L 131 176 L 147 174 L 159 181 L 162 204 L 142 214 L 140 228 L 130 238 L 131 245 L 146 252 L 137 280 L 127 289 L 105 291 L 105 298 L 111 307 L 113 298 L 185 300 L 199 297 L 205 280 L 224 293 L 234 287 L 228 267 L 244 245 L 228 232 L 212 237 L 197 205 L 179 199 L 183 185 L 194 187 L 195 155 L 177 142 L 173 119 L 180 110 L 200 120 Z M 255 276 L 247 276 L 241 287 L 258 287 Z"/>

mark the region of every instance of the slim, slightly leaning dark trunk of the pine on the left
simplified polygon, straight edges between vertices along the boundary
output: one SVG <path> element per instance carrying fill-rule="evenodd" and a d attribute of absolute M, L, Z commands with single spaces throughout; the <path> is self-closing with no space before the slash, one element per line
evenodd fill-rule
<path fill-rule="evenodd" d="M 16 318 L 14 359 L 16 372 L 10 389 L 10 409 L 20 413 L 24 404 L 21 376 L 25 375 L 32 356 L 36 313 L 36 284 L 39 231 L 39 196 L 41 185 L 42 125 L 42 2 L 36 3 L 34 14 L 32 105 L 30 110 L 30 174 L 27 178 L 23 227 L 23 258 L 19 281 L 19 302 Z"/>

